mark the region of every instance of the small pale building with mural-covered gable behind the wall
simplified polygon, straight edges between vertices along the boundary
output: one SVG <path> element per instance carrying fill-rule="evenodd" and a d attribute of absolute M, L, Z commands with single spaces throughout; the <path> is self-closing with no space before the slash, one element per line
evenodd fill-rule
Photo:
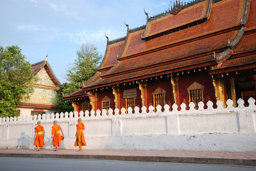
<path fill-rule="evenodd" d="M 39 80 L 31 84 L 34 92 L 30 95 L 30 100 L 19 103 L 17 109 L 20 111 L 20 116 L 58 112 L 56 95 L 59 92 L 60 82 L 53 73 L 47 57 L 44 61 L 32 64 L 31 69 Z"/>

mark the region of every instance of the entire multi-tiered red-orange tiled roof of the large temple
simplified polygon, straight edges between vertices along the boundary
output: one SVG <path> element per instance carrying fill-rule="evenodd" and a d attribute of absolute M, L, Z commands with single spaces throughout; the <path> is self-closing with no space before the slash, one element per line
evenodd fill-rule
<path fill-rule="evenodd" d="M 128 27 L 125 40 L 107 41 L 98 72 L 81 88 L 87 91 L 204 66 L 211 66 L 210 73 L 254 63 L 254 54 L 240 55 L 240 61 L 235 55 L 256 50 L 255 12 L 256 0 L 196 0 L 153 17 L 145 12 L 146 26 Z"/>

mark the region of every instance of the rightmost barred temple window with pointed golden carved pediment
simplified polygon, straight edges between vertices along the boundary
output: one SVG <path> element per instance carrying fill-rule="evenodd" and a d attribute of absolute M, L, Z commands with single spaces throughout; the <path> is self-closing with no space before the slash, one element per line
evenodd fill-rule
<path fill-rule="evenodd" d="M 204 91 L 204 86 L 201 84 L 194 82 L 193 84 L 190 85 L 190 87 L 187 88 L 187 91 L 189 93 L 189 100 L 190 102 L 193 102 L 195 104 L 195 109 L 198 109 L 198 103 L 200 101 L 204 101 L 203 98 L 203 91 Z"/>

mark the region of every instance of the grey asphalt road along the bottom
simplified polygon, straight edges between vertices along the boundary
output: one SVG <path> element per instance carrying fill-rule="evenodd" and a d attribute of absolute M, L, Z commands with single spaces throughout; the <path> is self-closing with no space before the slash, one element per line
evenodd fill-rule
<path fill-rule="evenodd" d="M 256 166 L 0 157 L 1 171 L 255 171 Z"/>

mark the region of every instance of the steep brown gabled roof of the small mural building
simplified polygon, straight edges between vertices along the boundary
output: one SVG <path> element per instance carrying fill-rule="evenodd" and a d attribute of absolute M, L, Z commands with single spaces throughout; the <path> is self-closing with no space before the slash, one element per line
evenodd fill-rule
<path fill-rule="evenodd" d="M 56 87 L 59 84 L 61 84 L 57 79 L 57 77 L 55 76 L 55 74 L 53 73 L 52 68 L 47 61 L 47 57 L 44 61 L 40 61 L 31 65 L 33 74 L 36 75 L 43 67 L 45 68 L 46 73 L 49 75 L 50 79 L 52 80 L 52 82 L 55 84 Z"/>

